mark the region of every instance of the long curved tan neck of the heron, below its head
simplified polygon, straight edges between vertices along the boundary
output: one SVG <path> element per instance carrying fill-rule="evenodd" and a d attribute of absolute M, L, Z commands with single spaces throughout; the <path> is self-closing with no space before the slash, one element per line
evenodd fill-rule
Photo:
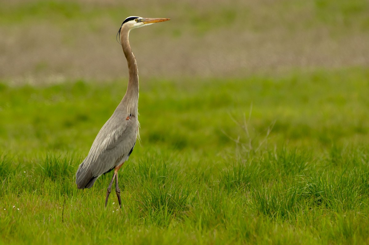
<path fill-rule="evenodd" d="M 120 41 L 122 44 L 123 52 L 128 63 L 128 86 L 127 91 L 122 99 L 123 104 L 127 107 L 128 115 L 138 116 L 138 69 L 135 56 L 132 53 L 130 43 L 128 41 L 128 35 L 130 29 L 122 27 L 120 31 Z"/>

